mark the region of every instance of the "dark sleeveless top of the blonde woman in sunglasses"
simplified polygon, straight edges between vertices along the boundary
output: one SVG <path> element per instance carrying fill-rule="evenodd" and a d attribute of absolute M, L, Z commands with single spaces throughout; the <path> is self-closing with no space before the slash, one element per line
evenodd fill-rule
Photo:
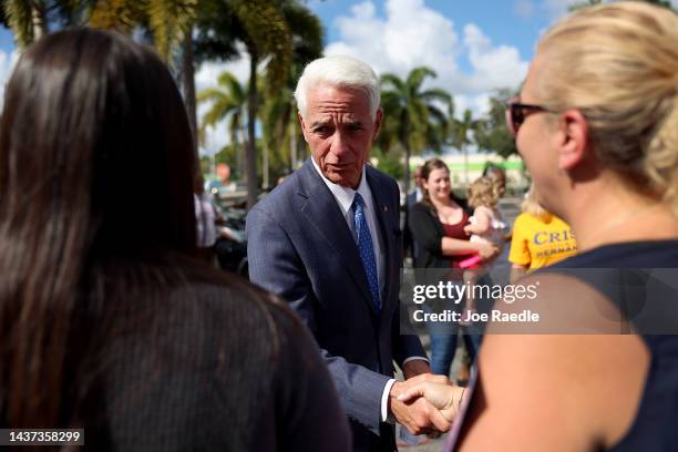
<path fill-rule="evenodd" d="M 607 276 L 605 271 L 597 270 L 577 273 L 576 276 L 606 294 L 623 311 L 627 309 L 631 314 L 638 312 L 634 302 L 639 298 L 645 298 L 644 311 L 648 310 L 647 304 L 651 305 L 649 318 L 629 316 L 649 350 L 650 363 L 634 422 L 610 451 L 678 450 L 678 335 L 656 333 L 677 330 L 678 240 L 606 245 L 544 270 L 551 273 L 574 268 L 623 269 Z M 668 276 L 665 278 L 668 284 L 659 282 L 649 276 L 649 269 L 667 269 L 664 275 Z M 623 279 L 622 285 L 618 284 L 619 278 Z M 624 287 L 624 290 L 620 291 L 619 287 Z M 636 290 L 637 288 L 641 288 L 641 291 Z M 640 294 L 643 296 L 638 297 Z"/>

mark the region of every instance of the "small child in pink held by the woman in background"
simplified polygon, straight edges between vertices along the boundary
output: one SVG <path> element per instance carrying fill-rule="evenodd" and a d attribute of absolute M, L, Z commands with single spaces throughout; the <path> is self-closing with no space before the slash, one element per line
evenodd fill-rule
<path fill-rule="evenodd" d="M 503 222 L 502 214 L 496 208 L 500 194 L 496 185 L 490 177 L 480 177 L 469 186 L 469 205 L 474 208 L 473 216 L 469 218 L 470 224 L 464 227 L 466 234 L 471 234 L 471 242 L 489 242 L 499 247 L 504 243 L 506 224 Z M 461 268 L 465 268 L 464 282 L 471 287 L 487 271 L 482 267 L 482 259 L 474 255 L 460 263 Z M 466 297 L 466 309 L 462 316 L 461 323 L 470 325 L 471 315 L 475 312 L 473 290 Z"/>

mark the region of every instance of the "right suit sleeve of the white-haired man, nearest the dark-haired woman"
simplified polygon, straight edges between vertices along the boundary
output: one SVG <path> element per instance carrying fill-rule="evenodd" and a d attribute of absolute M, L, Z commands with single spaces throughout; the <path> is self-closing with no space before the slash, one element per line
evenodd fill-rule
<path fill-rule="evenodd" d="M 247 215 L 249 279 L 280 297 L 317 337 L 311 282 L 294 244 L 278 222 L 260 206 Z M 350 419 L 379 434 L 381 396 L 389 378 L 320 349 L 342 408 Z"/>

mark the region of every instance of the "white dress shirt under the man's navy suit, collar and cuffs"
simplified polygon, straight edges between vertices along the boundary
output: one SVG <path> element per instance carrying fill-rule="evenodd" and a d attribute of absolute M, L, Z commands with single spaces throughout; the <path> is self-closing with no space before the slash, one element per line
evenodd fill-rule
<path fill-rule="evenodd" d="M 314 163 L 314 167 L 320 175 L 320 178 L 322 178 L 322 181 L 325 182 L 325 185 L 327 185 L 329 191 L 335 196 L 335 199 L 337 201 L 337 204 L 339 205 L 339 208 L 341 209 L 341 214 L 343 215 L 343 218 L 346 219 L 346 223 L 349 229 L 351 230 L 353 238 L 356 238 L 356 230 L 355 230 L 356 225 L 353 223 L 353 213 L 351 212 L 351 206 L 353 205 L 353 198 L 356 197 L 356 193 L 360 193 L 360 196 L 362 196 L 362 199 L 364 199 L 366 219 L 368 223 L 368 227 L 370 229 L 370 237 L 372 238 L 372 247 L 374 248 L 374 260 L 377 264 L 377 279 L 379 281 L 379 294 L 380 294 L 381 299 L 383 300 L 383 294 L 384 294 L 383 275 L 386 271 L 383 263 L 386 260 L 386 257 L 383 255 L 383 242 L 380 240 L 381 235 L 379 234 L 377 215 L 374 210 L 374 201 L 372 199 L 372 191 L 370 189 L 370 186 L 367 183 L 367 177 L 364 175 L 366 174 L 364 166 L 362 168 L 362 175 L 360 176 L 360 183 L 358 184 L 358 189 L 353 189 L 351 187 L 346 187 L 342 185 L 335 184 L 333 182 L 330 182 L 327 177 L 325 177 L 325 175 L 320 171 L 320 167 L 318 166 L 318 164 L 312 157 L 311 157 L 311 162 Z M 429 360 L 424 357 L 410 357 L 405 359 L 402 363 L 404 366 L 407 362 L 413 361 L 415 359 L 420 359 L 420 360 L 424 360 L 429 362 Z M 391 392 L 391 388 L 393 387 L 394 382 L 396 382 L 396 379 L 390 379 L 383 387 L 383 392 L 381 394 L 381 421 L 382 422 L 393 421 L 389 418 L 388 408 L 389 408 L 389 393 Z"/>

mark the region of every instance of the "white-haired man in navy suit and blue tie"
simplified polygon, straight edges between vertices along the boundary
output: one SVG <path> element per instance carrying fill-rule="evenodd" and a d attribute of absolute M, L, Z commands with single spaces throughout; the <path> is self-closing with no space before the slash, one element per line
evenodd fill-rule
<path fill-rule="evenodd" d="M 367 165 L 383 115 L 379 79 L 352 58 L 322 58 L 295 96 L 311 157 L 249 212 L 249 276 L 314 333 L 353 450 L 393 451 L 396 421 L 413 433 L 449 424 L 423 398 L 398 400 L 415 382 L 446 379 L 429 373 L 419 338 L 399 331 L 399 189 Z M 393 380 L 393 360 L 407 381 Z"/>

